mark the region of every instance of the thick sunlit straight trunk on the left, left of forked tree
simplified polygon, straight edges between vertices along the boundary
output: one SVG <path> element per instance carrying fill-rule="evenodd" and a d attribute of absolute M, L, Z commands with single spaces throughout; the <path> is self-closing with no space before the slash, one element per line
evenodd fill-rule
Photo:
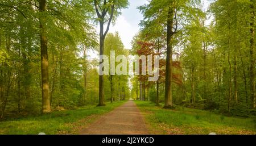
<path fill-rule="evenodd" d="M 40 0 L 39 10 L 41 13 L 46 11 L 46 0 Z M 51 112 L 49 99 L 49 70 L 48 53 L 46 38 L 46 18 L 40 16 L 40 44 L 41 44 L 41 72 L 42 72 L 42 112 Z"/>

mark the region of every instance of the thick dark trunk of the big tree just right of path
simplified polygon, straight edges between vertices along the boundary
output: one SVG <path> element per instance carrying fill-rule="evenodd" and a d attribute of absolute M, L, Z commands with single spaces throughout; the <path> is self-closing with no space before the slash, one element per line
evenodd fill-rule
<path fill-rule="evenodd" d="M 169 6 L 167 20 L 166 89 L 164 108 L 172 107 L 172 39 L 174 28 L 174 7 Z"/>

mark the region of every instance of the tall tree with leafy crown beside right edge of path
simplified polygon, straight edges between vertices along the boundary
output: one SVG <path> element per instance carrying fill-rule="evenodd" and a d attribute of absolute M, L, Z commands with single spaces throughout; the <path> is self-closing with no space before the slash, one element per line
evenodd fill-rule
<path fill-rule="evenodd" d="M 177 40 L 175 35 L 183 26 L 182 21 L 187 21 L 189 15 L 195 13 L 195 4 L 198 1 L 176 1 L 176 0 L 152 0 L 148 5 L 139 7 L 146 22 L 158 22 L 166 27 L 166 81 L 164 108 L 172 107 L 172 55 Z M 180 25 L 180 26 L 179 26 Z"/>

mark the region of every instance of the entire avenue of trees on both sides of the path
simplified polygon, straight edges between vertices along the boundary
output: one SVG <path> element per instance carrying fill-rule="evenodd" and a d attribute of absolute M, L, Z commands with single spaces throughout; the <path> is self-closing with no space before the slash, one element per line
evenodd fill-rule
<path fill-rule="evenodd" d="M 0 119 L 129 98 L 255 115 L 255 3 L 148 0 L 129 50 L 109 33 L 127 0 L 2 0 Z M 98 75 L 88 52 L 110 51 L 159 55 L 158 81 Z"/>

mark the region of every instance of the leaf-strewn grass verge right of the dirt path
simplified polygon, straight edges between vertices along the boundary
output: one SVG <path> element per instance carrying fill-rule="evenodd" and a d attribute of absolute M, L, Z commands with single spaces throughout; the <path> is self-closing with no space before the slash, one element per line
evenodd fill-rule
<path fill-rule="evenodd" d="M 234 118 L 210 111 L 177 106 L 174 110 L 156 107 L 154 103 L 135 101 L 153 134 L 256 134 L 251 118 Z"/>

